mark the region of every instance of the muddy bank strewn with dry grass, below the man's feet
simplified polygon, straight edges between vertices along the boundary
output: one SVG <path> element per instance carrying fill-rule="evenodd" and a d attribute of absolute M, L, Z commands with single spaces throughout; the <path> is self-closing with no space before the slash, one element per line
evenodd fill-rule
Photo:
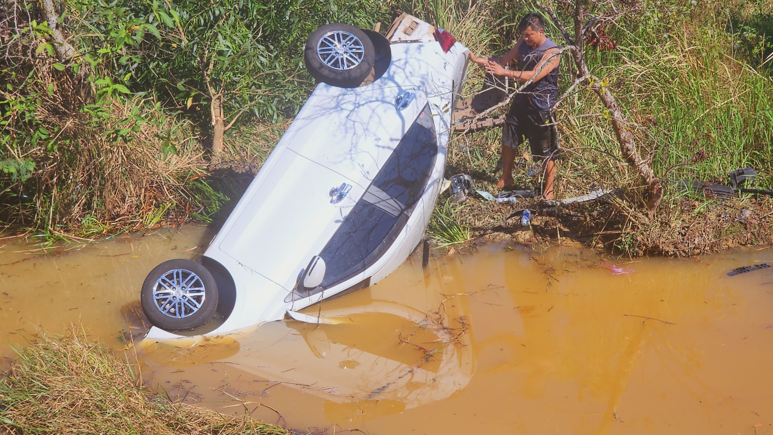
<path fill-rule="evenodd" d="M 526 227 L 520 225 L 519 213 L 513 213 L 524 208 L 533 212 Z M 456 218 L 475 240 L 513 240 L 526 246 L 572 240 L 626 257 L 691 257 L 773 244 L 773 199 L 764 197 L 720 201 L 683 196 L 664 202 L 649 219 L 615 197 L 541 206 L 533 199 L 498 204 L 474 195 Z"/>

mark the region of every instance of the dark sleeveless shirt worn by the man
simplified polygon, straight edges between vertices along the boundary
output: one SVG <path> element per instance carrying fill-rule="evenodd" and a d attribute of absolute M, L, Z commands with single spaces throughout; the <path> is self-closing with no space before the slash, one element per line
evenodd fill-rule
<path fill-rule="evenodd" d="M 545 42 L 536 49 L 533 49 L 523 42 L 518 48 L 518 64 L 522 71 L 534 70 L 537 63 L 540 63 L 545 51 L 557 47 L 556 42 L 546 39 Z M 531 83 L 522 93 L 517 93 L 512 100 L 511 111 L 547 111 L 558 98 L 558 70 L 560 63 L 542 80 Z M 519 86 L 519 83 L 516 83 Z"/>

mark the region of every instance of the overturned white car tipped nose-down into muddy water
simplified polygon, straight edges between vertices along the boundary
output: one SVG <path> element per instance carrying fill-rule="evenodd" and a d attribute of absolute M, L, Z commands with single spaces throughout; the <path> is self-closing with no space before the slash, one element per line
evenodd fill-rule
<path fill-rule="evenodd" d="M 148 336 L 278 320 L 403 263 L 441 189 L 467 53 L 410 15 L 386 37 L 342 24 L 314 32 L 305 59 L 322 83 L 201 262 L 170 260 L 148 275 Z"/>

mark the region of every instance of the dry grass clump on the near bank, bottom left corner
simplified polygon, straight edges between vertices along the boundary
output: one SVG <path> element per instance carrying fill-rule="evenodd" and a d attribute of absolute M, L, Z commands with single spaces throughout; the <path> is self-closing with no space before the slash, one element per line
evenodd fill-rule
<path fill-rule="evenodd" d="M 247 416 L 170 403 L 142 387 L 129 356 L 73 328 L 16 350 L 0 379 L 2 433 L 153 433 L 159 435 L 289 435 Z"/>

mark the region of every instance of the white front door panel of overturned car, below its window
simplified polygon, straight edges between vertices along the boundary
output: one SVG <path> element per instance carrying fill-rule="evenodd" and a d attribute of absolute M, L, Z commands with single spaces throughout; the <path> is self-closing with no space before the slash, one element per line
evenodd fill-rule
<path fill-rule="evenodd" d="M 341 202 L 332 204 L 329 191 L 341 184 L 352 188 Z M 219 247 L 291 291 L 298 264 L 322 248 L 363 189 L 289 149 L 279 156 L 261 187 L 250 196 Z"/>

